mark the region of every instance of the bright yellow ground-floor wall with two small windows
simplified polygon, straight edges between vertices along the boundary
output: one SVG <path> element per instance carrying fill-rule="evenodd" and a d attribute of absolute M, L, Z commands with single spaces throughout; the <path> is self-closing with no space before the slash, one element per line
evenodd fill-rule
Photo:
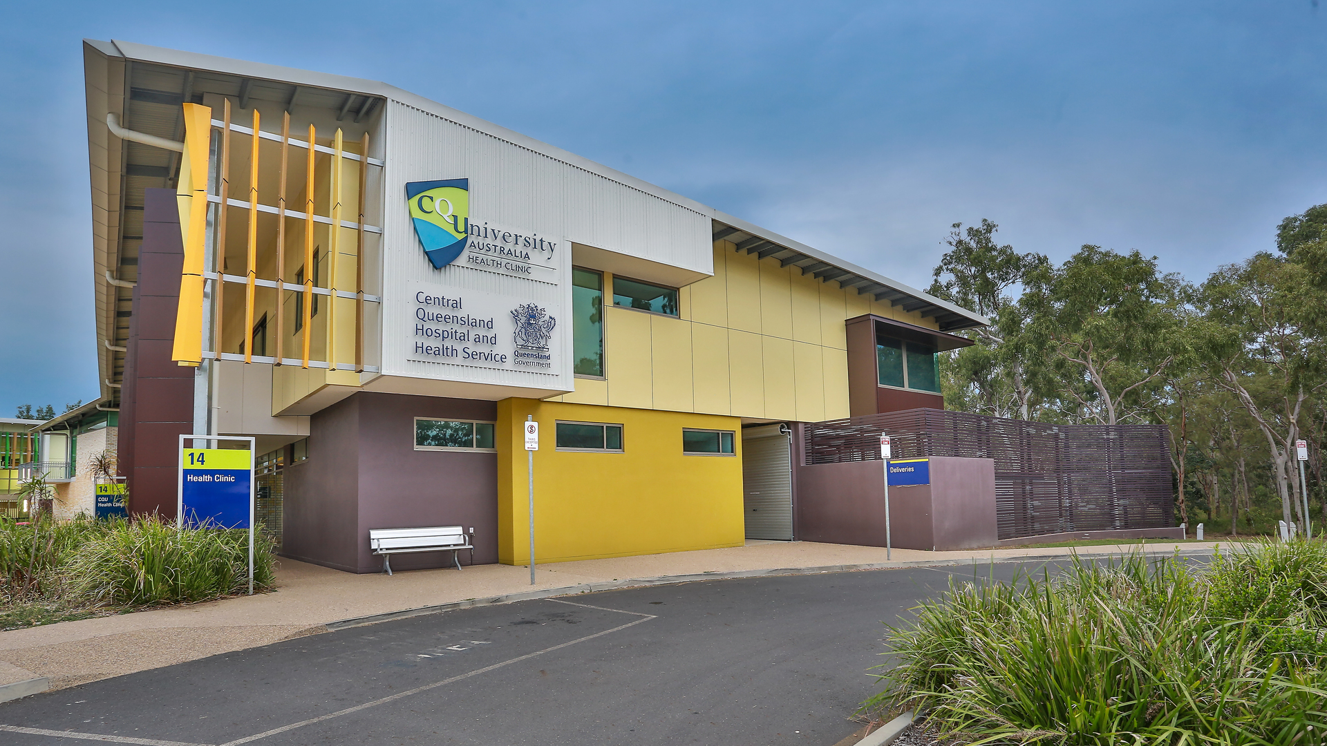
<path fill-rule="evenodd" d="M 744 543 L 742 459 L 682 455 L 682 429 L 739 431 L 733 417 L 504 400 L 498 402 L 498 560 L 529 559 L 522 423 L 539 422 L 535 559 L 569 561 Z M 622 453 L 556 450 L 556 421 L 622 425 Z M 740 450 L 740 439 L 736 447 Z"/>

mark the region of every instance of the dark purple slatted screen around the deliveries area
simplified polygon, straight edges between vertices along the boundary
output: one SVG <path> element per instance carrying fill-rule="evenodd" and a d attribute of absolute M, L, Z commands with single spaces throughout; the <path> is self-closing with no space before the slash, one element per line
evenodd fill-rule
<path fill-rule="evenodd" d="M 815 422 L 805 462 L 966 457 L 995 461 L 999 538 L 1174 524 L 1169 433 L 1161 425 L 1048 425 L 909 409 Z"/>

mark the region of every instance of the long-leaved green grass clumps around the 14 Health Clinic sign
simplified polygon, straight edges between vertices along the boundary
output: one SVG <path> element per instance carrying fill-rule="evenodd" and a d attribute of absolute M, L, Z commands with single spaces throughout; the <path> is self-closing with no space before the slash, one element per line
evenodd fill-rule
<path fill-rule="evenodd" d="M 253 588 L 272 585 L 275 552 L 255 534 Z M 0 519 L 0 611 L 134 608 L 219 599 L 248 589 L 248 531 L 127 522 Z"/>

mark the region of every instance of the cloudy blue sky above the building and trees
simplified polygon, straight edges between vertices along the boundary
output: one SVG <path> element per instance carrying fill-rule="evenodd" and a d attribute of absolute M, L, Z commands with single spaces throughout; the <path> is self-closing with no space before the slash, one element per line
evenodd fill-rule
<path fill-rule="evenodd" d="M 5 20 L 0 415 L 97 396 L 82 37 L 382 80 L 921 287 L 953 222 L 1202 279 L 1327 202 L 1312 0 L 24 3 Z"/>

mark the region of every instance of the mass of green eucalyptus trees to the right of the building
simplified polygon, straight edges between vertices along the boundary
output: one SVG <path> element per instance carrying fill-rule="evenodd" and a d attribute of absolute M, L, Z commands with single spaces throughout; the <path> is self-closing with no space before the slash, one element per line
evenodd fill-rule
<path fill-rule="evenodd" d="M 942 357 L 946 406 L 1162 423 L 1181 520 L 1266 532 L 1316 515 L 1315 530 L 1327 526 L 1327 204 L 1282 220 L 1275 251 L 1197 284 L 1154 256 L 1092 244 L 1054 264 L 1001 244 L 997 230 L 954 223 L 934 269 L 932 295 L 991 320 Z M 1310 443 L 1314 515 L 1296 439 Z"/>

